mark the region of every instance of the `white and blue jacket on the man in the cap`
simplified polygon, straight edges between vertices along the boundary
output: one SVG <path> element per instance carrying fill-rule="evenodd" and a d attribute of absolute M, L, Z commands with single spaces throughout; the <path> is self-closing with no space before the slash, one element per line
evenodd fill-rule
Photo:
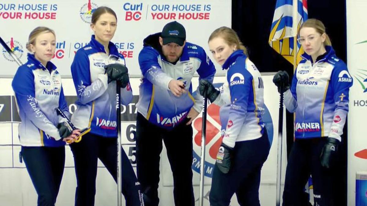
<path fill-rule="evenodd" d="M 192 107 L 198 112 L 202 110 L 203 96 L 199 92 L 192 96 L 191 79 L 197 72 L 199 79 L 212 82 L 215 67 L 203 48 L 188 42 L 177 63 L 168 62 L 161 53 L 159 36 L 156 33 L 145 38 L 139 53 L 143 81 L 137 108 L 150 123 L 170 130 L 186 118 Z M 171 80 L 183 81 L 188 93 L 174 96 L 168 88 Z"/>

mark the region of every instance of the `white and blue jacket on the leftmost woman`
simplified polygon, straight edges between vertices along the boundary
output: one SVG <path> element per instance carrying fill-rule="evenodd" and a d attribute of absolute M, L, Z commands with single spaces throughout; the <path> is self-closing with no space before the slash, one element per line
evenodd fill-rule
<path fill-rule="evenodd" d="M 19 141 L 22 146 L 64 146 L 57 125 L 66 119 L 58 116 L 57 108 L 70 115 L 56 66 L 44 67 L 33 54 L 15 73 L 11 86 L 19 116 Z"/>

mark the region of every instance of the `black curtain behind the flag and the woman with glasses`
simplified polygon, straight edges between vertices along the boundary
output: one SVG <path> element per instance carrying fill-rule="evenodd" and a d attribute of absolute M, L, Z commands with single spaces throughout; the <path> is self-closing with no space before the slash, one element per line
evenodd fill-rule
<path fill-rule="evenodd" d="M 248 49 L 252 62 L 261 72 L 286 70 L 293 74 L 293 66 L 268 44 L 276 0 L 232 0 L 232 28 Z M 308 0 L 308 18 L 320 19 L 326 26 L 333 48 L 346 62 L 345 0 Z M 292 75 L 291 75 L 292 78 Z M 287 119 L 287 154 L 293 143 L 293 114 Z M 275 120 L 277 121 L 277 120 Z M 346 124 L 347 125 L 347 124 Z M 337 205 L 347 205 L 347 128 L 339 146 L 339 165 L 335 170 L 335 198 Z"/>

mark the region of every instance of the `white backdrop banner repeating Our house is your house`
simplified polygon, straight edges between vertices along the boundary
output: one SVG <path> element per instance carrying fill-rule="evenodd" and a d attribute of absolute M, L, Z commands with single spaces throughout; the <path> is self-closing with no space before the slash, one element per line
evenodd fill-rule
<path fill-rule="evenodd" d="M 220 26 L 231 26 L 231 1 L 223 0 L 2 0 L 0 36 L 26 62 L 26 42 L 37 26 L 55 30 L 57 49 L 52 60 L 62 76 L 71 76 L 75 52 L 89 43 L 91 16 L 99 6 L 108 6 L 117 14 L 117 30 L 112 42 L 126 58 L 131 75 L 140 75 L 138 55 L 143 39 L 161 32 L 163 26 L 178 21 L 185 26 L 187 41 L 207 52 L 208 37 Z M 5 49 L 0 49 L 0 76 L 13 76 L 17 65 Z M 220 68 L 216 65 L 217 68 Z M 217 73 L 223 73 L 218 69 Z"/>

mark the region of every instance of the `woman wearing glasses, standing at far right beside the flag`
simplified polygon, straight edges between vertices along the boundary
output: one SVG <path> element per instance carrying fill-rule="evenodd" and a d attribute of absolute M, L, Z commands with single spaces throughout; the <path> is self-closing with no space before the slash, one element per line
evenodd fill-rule
<path fill-rule="evenodd" d="M 292 85 L 285 71 L 273 78 L 279 91 L 281 86 L 284 88 L 287 110 L 295 112 L 295 141 L 288 158 L 283 206 L 302 205 L 310 174 L 315 205 L 333 206 L 333 163 L 342 141 L 353 79 L 345 63 L 335 55 L 321 21 L 305 21 L 298 37 L 305 53 Z"/>

